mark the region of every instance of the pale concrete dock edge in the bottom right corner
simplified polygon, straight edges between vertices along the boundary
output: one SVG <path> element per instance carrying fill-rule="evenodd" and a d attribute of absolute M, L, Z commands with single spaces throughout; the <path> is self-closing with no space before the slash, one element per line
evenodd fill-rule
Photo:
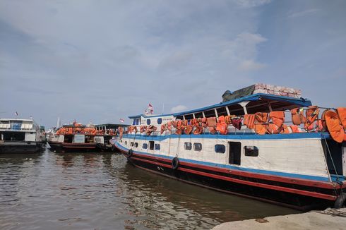
<path fill-rule="evenodd" d="M 345 229 L 346 208 L 311 211 L 263 219 L 246 219 L 217 225 L 213 230 L 229 229 Z"/>

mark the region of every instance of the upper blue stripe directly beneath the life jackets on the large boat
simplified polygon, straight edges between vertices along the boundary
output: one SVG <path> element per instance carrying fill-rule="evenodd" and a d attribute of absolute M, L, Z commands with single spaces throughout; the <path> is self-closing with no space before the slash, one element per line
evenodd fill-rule
<path fill-rule="evenodd" d="M 226 139 L 226 140 L 284 140 L 284 139 L 303 139 L 303 138 L 330 138 L 328 133 L 287 133 L 287 134 L 268 134 L 258 135 L 255 133 L 239 133 L 239 134 L 201 134 L 201 135 L 141 135 L 141 134 L 126 134 L 123 138 L 130 138 L 136 140 L 166 140 L 168 138 L 205 138 L 205 139 Z"/>

